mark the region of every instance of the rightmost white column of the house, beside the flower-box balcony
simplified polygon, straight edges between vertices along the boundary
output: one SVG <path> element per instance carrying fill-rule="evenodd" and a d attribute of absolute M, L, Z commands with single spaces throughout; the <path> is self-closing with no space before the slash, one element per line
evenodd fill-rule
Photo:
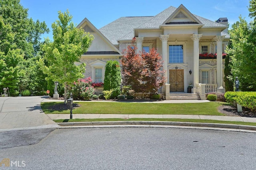
<path fill-rule="evenodd" d="M 224 93 L 225 89 L 223 88 L 222 81 L 222 40 L 223 36 L 217 35 L 213 39 L 217 43 L 217 92 L 218 93 Z"/>

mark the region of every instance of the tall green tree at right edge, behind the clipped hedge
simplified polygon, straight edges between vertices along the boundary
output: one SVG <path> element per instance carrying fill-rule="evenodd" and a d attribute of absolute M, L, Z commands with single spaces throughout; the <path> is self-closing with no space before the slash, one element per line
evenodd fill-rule
<path fill-rule="evenodd" d="M 238 76 L 240 90 L 256 90 L 256 27 L 255 21 L 248 24 L 244 18 L 232 25 L 230 41 L 232 48 L 227 48 L 232 63 L 232 74 Z M 233 78 L 234 78 L 233 77 Z M 233 79 L 234 81 L 234 79 Z"/>

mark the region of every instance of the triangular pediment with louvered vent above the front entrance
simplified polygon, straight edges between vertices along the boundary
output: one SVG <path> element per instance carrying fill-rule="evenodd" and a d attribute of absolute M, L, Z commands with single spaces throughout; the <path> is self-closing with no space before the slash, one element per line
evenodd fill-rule
<path fill-rule="evenodd" d="M 182 4 L 164 21 L 163 25 L 173 24 L 202 24 L 191 12 Z"/>

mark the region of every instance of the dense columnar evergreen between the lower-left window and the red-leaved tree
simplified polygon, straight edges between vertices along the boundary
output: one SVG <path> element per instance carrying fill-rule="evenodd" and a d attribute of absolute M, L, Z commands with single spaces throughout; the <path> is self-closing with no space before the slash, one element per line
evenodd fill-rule
<path fill-rule="evenodd" d="M 105 68 L 105 78 L 104 78 L 104 90 L 116 90 L 117 93 L 112 97 L 117 97 L 120 93 L 121 84 L 121 70 L 118 61 L 107 61 Z"/>

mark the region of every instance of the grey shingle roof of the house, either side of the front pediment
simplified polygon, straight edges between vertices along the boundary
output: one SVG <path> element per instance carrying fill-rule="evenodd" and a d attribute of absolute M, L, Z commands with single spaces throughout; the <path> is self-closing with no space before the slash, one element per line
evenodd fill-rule
<path fill-rule="evenodd" d="M 147 17 L 121 17 L 112 23 L 102 27 L 99 31 L 114 45 L 118 44 L 117 40 L 120 39 L 132 39 L 134 37 L 134 28 L 151 28 L 158 29 L 164 21 L 170 17 L 170 15 L 177 8 L 170 6 L 164 11 L 160 12 L 156 16 Z M 200 16 L 194 15 L 202 24 L 203 27 L 223 27 L 220 23 L 207 20 Z"/>

